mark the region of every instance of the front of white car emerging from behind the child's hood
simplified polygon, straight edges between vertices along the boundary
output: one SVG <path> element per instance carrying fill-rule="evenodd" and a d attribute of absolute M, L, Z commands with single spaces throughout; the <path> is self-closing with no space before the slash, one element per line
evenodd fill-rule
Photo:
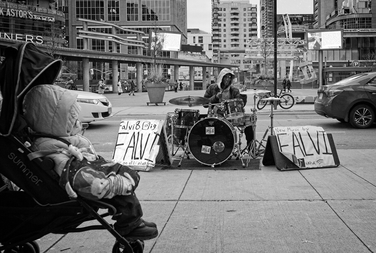
<path fill-rule="evenodd" d="M 77 102 L 81 107 L 79 120 L 83 123 L 112 117 L 112 104 L 103 95 L 86 91 L 72 90 L 77 93 Z"/>

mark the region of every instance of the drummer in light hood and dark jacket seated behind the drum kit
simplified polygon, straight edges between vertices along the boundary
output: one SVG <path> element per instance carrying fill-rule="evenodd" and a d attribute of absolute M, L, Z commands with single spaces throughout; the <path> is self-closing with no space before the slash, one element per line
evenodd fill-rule
<path fill-rule="evenodd" d="M 247 103 L 247 96 L 241 96 L 238 88 L 232 86 L 235 79 L 234 73 L 229 69 L 222 69 L 218 75 L 218 82 L 209 85 L 206 89 L 204 98 L 209 99 L 211 104 L 219 104 L 229 99 L 243 99 L 244 105 Z M 207 107 L 207 106 L 206 106 Z M 217 110 L 218 117 L 224 117 L 224 111 Z M 248 126 L 244 129 L 247 145 L 253 140 L 253 127 Z"/>

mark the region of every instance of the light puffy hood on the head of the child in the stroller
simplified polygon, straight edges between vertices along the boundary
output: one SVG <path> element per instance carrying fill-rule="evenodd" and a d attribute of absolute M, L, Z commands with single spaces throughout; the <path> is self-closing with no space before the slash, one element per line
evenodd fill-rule
<path fill-rule="evenodd" d="M 42 84 L 30 89 L 23 101 L 24 118 L 35 132 L 66 137 L 81 131 L 80 106 L 74 91 Z"/>

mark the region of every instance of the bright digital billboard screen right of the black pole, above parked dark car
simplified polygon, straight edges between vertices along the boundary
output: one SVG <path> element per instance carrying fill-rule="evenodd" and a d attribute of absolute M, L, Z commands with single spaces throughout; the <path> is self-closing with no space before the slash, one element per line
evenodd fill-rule
<path fill-rule="evenodd" d="M 308 50 L 342 49 L 343 29 L 308 30 Z"/>

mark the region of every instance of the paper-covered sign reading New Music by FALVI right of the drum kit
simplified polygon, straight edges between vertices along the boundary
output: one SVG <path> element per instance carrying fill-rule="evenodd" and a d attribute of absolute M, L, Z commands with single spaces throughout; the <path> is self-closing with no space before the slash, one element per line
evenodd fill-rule
<path fill-rule="evenodd" d="M 337 166 L 323 128 L 315 126 L 274 127 L 279 152 L 299 168 Z"/>

